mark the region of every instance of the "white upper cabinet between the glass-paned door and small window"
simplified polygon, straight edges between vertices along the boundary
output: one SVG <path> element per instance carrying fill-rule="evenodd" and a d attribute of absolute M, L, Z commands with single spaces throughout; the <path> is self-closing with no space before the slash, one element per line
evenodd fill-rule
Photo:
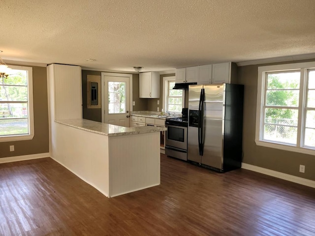
<path fill-rule="evenodd" d="M 139 97 L 159 98 L 159 73 L 143 72 L 139 74 Z"/>

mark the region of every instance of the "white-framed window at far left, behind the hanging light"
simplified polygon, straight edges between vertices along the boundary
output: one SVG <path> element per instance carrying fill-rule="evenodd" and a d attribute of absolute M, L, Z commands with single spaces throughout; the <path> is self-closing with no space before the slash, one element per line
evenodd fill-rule
<path fill-rule="evenodd" d="M 0 142 L 32 139 L 32 67 L 10 66 L 7 78 L 0 78 Z"/>

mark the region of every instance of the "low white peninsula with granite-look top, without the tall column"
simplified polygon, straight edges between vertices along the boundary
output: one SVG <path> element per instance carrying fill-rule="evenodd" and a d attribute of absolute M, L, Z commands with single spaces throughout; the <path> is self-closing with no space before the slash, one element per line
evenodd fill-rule
<path fill-rule="evenodd" d="M 55 120 L 51 156 L 107 197 L 160 184 L 159 132 L 87 119 Z"/>

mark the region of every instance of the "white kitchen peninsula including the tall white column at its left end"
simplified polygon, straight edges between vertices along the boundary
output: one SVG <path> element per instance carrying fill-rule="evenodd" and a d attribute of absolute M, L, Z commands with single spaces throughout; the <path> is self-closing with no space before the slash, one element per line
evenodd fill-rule
<path fill-rule="evenodd" d="M 82 119 L 79 66 L 48 65 L 47 88 L 51 158 L 107 197 L 160 184 L 160 131 L 165 128 Z"/>

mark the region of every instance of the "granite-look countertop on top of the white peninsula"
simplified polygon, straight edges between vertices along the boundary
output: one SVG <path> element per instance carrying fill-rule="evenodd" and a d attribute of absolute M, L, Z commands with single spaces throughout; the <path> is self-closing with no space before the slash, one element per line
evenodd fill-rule
<path fill-rule="evenodd" d="M 106 136 L 146 134 L 166 130 L 166 128 L 156 126 L 123 127 L 89 119 L 63 119 L 55 120 L 55 122 Z"/>

